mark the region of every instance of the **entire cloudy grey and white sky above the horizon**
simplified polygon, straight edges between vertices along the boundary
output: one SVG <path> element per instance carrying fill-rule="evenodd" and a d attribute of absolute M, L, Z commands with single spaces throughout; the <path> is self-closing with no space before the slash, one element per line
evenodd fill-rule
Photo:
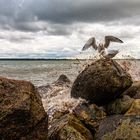
<path fill-rule="evenodd" d="M 105 35 L 117 58 L 140 58 L 139 0 L 0 0 L 0 58 L 76 58 L 84 43 Z"/>

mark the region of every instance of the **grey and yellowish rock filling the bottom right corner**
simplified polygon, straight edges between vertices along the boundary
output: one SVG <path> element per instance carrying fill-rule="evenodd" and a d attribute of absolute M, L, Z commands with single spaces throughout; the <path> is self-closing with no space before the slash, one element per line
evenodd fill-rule
<path fill-rule="evenodd" d="M 139 140 L 140 118 L 111 116 L 104 119 L 96 134 L 97 140 Z"/>

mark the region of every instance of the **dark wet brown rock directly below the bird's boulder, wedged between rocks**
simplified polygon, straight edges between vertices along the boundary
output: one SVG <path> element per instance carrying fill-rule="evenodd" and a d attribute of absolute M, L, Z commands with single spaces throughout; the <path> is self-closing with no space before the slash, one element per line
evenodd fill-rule
<path fill-rule="evenodd" d="M 99 122 L 106 117 L 102 108 L 95 104 L 82 103 L 75 107 L 73 114 L 94 134 Z"/>

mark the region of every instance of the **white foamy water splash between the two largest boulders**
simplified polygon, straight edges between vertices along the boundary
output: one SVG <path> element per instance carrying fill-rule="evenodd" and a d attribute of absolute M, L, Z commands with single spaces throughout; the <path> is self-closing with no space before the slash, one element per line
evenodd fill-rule
<path fill-rule="evenodd" d="M 70 96 L 71 87 L 52 85 L 52 88 L 46 93 L 47 96 L 42 99 L 45 111 L 49 115 L 49 122 L 53 119 L 56 112 L 69 112 L 80 103 L 85 102 L 84 99 L 74 99 Z"/>

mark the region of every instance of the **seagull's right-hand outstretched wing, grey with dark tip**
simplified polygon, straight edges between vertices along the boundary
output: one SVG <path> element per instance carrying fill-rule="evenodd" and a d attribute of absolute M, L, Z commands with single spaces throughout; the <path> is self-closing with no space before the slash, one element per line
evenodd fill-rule
<path fill-rule="evenodd" d="M 104 44 L 104 47 L 107 48 L 110 44 L 110 42 L 118 42 L 118 43 L 123 43 L 122 40 L 120 40 L 119 38 L 117 37 L 114 37 L 114 36 L 105 36 L 105 44 Z"/>

